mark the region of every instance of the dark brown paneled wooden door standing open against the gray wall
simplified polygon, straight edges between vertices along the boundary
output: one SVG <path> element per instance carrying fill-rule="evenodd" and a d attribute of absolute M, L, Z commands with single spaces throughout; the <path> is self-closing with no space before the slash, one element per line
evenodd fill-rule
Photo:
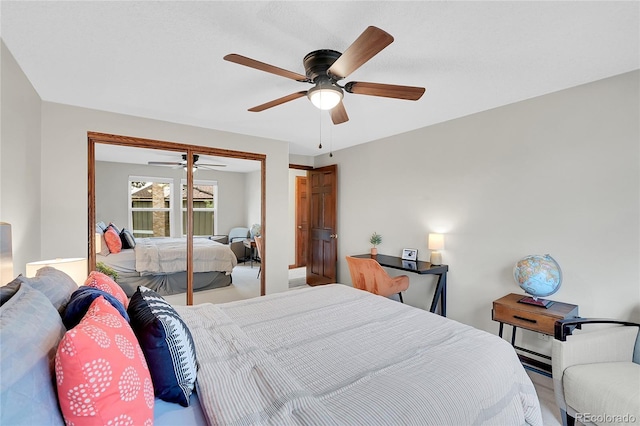
<path fill-rule="evenodd" d="M 309 171 L 307 284 L 335 283 L 338 260 L 338 166 Z"/>

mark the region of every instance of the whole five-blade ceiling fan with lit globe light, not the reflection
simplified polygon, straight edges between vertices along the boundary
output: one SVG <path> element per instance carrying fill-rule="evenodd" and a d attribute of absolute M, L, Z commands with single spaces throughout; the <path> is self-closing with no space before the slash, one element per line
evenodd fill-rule
<path fill-rule="evenodd" d="M 250 108 L 249 111 L 264 111 L 306 95 L 316 107 L 331 110 L 331 121 L 333 121 L 333 124 L 340 124 L 349 120 L 347 111 L 342 103 L 344 91 L 356 95 L 382 96 L 412 101 L 417 101 L 422 97 L 425 91 L 424 87 L 397 86 L 392 84 L 366 83 L 362 81 L 350 81 L 343 86 L 338 84 L 340 80 L 360 68 L 392 42 L 393 37 L 387 32 L 377 27 L 367 27 L 344 53 L 330 49 L 314 50 L 308 53 L 302 61 L 305 75 L 287 71 L 236 53 L 226 55 L 224 59 L 260 71 L 314 85 L 314 87 L 309 90 L 283 96 Z"/>

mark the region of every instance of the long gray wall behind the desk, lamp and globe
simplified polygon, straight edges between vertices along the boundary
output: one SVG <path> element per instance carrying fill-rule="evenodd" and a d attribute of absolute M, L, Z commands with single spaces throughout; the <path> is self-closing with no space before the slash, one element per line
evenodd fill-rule
<path fill-rule="evenodd" d="M 513 265 L 549 253 L 564 273 L 551 299 L 639 321 L 639 80 L 635 71 L 316 157 L 338 164 L 339 280 L 351 281 L 344 256 L 368 252 L 374 231 L 379 253 L 414 247 L 424 260 L 439 231 L 456 320 L 496 333 L 491 302 L 522 292 Z M 427 306 L 434 280 L 409 275 L 405 301 Z"/>

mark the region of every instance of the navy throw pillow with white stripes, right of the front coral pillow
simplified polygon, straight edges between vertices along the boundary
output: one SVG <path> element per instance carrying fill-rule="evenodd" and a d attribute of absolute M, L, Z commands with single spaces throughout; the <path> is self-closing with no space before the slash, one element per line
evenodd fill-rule
<path fill-rule="evenodd" d="M 188 407 L 198 372 L 191 331 L 173 306 L 143 286 L 131 296 L 128 312 L 156 398 Z"/>

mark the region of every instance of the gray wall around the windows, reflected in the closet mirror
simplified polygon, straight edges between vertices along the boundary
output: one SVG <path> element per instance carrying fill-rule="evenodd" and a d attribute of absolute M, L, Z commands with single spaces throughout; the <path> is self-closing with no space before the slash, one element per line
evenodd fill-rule
<path fill-rule="evenodd" d="M 96 219 L 129 228 L 127 188 L 129 176 L 165 177 L 173 179 L 174 191 L 180 188 L 181 169 L 113 162 L 96 162 Z M 228 234 L 235 226 L 248 226 L 245 181 L 246 173 L 199 169 L 194 179 L 218 182 L 218 234 Z M 258 173 L 258 179 L 260 174 Z M 254 203 L 260 206 L 260 192 Z M 173 229 L 178 236 L 180 218 L 174 215 Z"/>

